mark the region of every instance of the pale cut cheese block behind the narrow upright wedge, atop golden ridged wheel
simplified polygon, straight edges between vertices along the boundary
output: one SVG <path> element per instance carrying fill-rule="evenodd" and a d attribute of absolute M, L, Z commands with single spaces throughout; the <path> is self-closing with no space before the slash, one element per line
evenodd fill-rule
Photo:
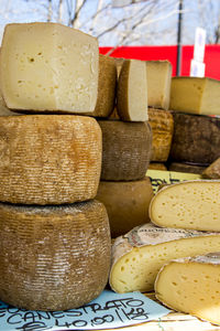
<path fill-rule="evenodd" d="M 146 61 L 148 106 L 169 109 L 172 64 L 168 61 Z"/>

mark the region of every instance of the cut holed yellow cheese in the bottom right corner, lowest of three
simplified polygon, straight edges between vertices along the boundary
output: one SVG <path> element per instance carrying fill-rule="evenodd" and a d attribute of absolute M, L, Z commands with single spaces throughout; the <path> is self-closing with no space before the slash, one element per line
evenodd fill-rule
<path fill-rule="evenodd" d="M 165 265 L 157 275 L 155 293 L 172 309 L 220 324 L 220 254 Z"/>

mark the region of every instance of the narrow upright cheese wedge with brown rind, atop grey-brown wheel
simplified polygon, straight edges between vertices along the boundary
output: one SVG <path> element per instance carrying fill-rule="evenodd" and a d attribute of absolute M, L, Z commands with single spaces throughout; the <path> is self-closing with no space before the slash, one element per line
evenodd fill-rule
<path fill-rule="evenodd" d="M 147 83 L 145 62 L 124 60 L 117 88 L 117 111 L 122 120 L 146 121 Z"/>

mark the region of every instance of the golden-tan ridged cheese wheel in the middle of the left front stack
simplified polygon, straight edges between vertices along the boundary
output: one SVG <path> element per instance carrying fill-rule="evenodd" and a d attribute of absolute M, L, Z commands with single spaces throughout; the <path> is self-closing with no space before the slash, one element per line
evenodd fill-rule
<path fill-rule="evenodd" d="M 23 115 L 0 121 L 0 201 L 62 204 L 94 199 L 101 171 L 96 119 Z"/>

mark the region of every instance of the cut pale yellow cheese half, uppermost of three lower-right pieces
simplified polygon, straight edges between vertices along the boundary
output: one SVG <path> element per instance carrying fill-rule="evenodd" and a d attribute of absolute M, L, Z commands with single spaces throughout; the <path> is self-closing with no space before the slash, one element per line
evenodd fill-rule
<path fill-rule="evenodd" d="M 220 181 L 167 185 L 151 202 L 150 218 L 163 227 L 220 232 Z"/>

